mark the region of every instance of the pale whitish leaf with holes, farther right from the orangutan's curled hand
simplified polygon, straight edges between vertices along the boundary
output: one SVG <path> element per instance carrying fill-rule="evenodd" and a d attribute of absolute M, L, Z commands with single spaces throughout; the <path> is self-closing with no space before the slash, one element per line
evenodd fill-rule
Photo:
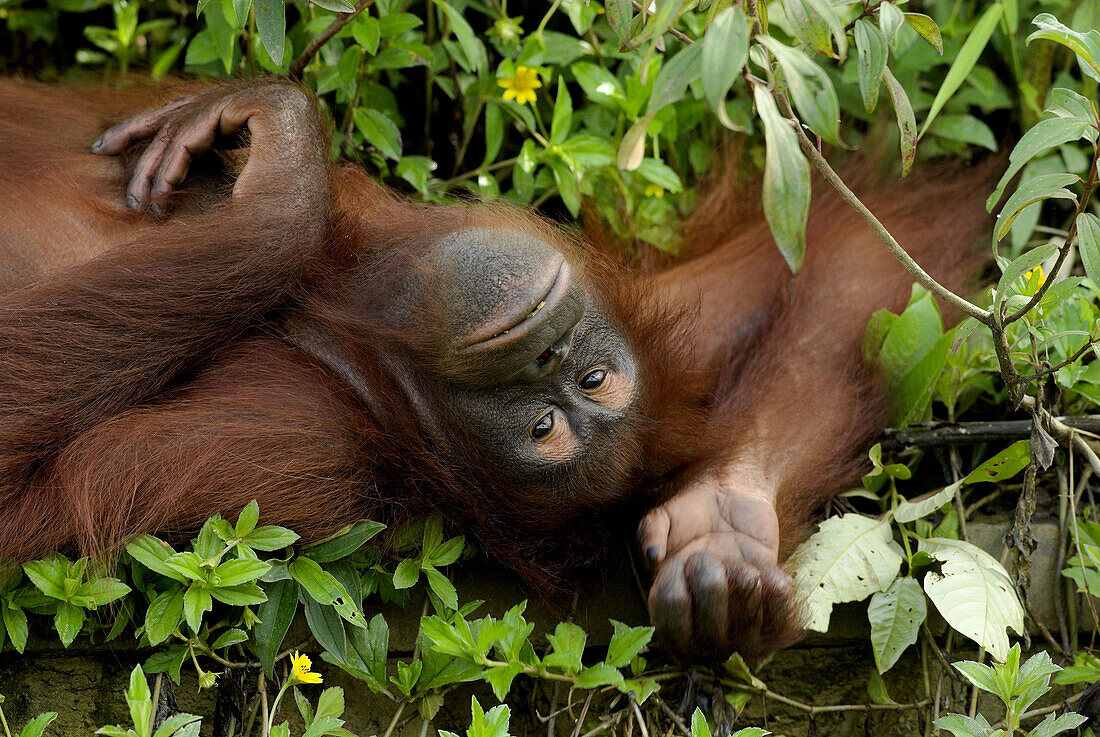
<path fill-rule="evenodd" d="M 924 578 L 924 591 L 947 624 L 1000 661 L 1009 654 L 1008 629 L 1024 629 L 1024 609 L 996 558 L 965 540 L 931 538 L 920 549 L 942 565 Z"/>

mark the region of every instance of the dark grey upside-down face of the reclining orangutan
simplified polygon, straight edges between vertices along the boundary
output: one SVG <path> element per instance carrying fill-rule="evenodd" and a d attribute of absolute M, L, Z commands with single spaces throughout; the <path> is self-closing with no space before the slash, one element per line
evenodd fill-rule
<path fill-rule="evenodd" d="M 638 367 L 581 270 L 526 233 L 469 229 L 421 273 L 413 311 L 436 327 L 450 404 L 494 473 L 550 499 L 614 494 Z"/>

